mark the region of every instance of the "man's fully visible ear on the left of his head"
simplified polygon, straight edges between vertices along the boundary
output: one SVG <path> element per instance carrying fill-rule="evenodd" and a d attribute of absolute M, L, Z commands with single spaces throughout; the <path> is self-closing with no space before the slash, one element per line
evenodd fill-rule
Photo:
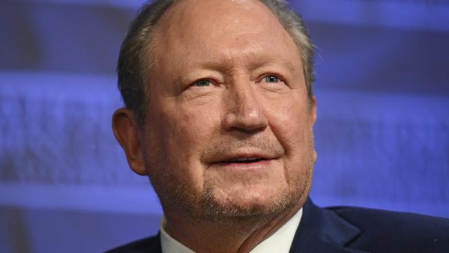
<path fill-rule="evenodd" d="M 137 129 L 134 113 L 126 108 L 118 109 L 113 115 L 112 123 L 115 138 L 126 153 L 129 167 L 139 175 L 146 175 L 144 156 L 139 140 L 139 129 Z"/>

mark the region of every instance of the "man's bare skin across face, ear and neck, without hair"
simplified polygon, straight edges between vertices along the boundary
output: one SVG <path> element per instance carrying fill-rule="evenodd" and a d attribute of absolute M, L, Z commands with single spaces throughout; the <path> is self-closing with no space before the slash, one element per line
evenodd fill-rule
<path fill-rule="evenodd" d="M 303 206 L 316 103 L 300 55 L 259 1 L 184 0 L 157 24 L 147 121 L 113 116 L 167 230 L 196 252 L 249 252 Z M 248 163 L 224 162 L 263 158 Z"/>

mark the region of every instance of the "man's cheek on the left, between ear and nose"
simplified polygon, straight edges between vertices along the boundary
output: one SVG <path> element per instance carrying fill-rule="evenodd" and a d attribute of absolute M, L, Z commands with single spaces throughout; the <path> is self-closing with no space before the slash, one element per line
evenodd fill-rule
<path fill-rule="evenodd" d="M 200 187 L 204 177 L 200 158 L 213 134 L 213 123 L 207 113 L 184 108 L 165 108 L 155 115 L 153 124 L 149 122 L 151 145 L 146 153 L 157 169 L 170 170 L 172 177 Z"/>

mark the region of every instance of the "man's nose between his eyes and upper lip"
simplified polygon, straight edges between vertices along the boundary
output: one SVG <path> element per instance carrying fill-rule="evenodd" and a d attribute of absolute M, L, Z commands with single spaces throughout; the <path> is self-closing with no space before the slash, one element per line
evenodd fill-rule
<path fill-rule="evenodd" d="M 250 82 L 236 82 L 229 87 L 225 115 L 222 118 L 222 126 L 226 131 L 254 132 L 267 128 L 267 118 L 254 85 L 256 84 Z"/>

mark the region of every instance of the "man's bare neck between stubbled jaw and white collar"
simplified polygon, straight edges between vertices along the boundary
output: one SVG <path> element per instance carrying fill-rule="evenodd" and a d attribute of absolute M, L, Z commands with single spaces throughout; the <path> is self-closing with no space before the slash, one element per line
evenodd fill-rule
<path fill-rule="evenodd" d="M 166 215 L 166 231 L 191 250 L 201 252 L 249 252 L 274 234 L 300 209 L 300 205 L 276 216 L 245 216 L 220 221 Z"/>

